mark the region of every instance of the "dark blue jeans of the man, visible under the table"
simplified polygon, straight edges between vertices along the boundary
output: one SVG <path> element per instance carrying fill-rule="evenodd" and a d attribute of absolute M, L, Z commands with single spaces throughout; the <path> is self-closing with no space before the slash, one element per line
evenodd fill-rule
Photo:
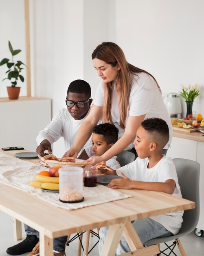
<path fill-rule="evenodd" d="M 24 224 L 24 228 L 27 235 L 34 235 L 39 238 L 39 232 L 35 229 L 32 229 L 31 227 Z M 67 242 L 67 236 L 62 236 L 58 238 L 53 239 L 53 250 L 56 252 L 64 252 L 65 251 L 65 245 Z"/>

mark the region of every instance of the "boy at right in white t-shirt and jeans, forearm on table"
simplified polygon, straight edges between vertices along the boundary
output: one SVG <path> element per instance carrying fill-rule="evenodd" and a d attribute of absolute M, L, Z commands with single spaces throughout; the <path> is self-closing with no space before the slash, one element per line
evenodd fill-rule
<path fill-rule="evenodd" d="M 182 197 L 175 166 L 171 158 L 162 155 L 162 149 L 169 140 L 167 123 L 159 118 L 146 119 L 137 130 L 134 141 L 138 158 L 116 171 L 103 171 L 105 174 L 120 175 L 108 184 L 112 189 L 144 189 L 162 191 Z M 102 164 L 105 164 L 102 162 Z M 178 233 L 182 223 L 183 211 L 136 220 L 132 223 L 141 242 Z M 99 252 L 101 253 L 108 227 L 100 229 Z M 130 252 L 124 237 L 117 248 L 117 255 Z"/>

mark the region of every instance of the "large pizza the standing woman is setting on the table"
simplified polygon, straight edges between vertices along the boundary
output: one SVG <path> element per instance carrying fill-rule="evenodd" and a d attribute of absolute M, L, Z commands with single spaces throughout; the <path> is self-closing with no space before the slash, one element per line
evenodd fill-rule
<path fill-rule="evenodd" d="M 83 162 L 82 159 L 77 159 L 75 157 L 61 157 L 57 158 L 55 155 L 46 155 L 41 158 L 45 163 L 59 164 L 59 165 L 75 165 L 75 166 L 85 166 L 90 165 L 91 162 Z"/>

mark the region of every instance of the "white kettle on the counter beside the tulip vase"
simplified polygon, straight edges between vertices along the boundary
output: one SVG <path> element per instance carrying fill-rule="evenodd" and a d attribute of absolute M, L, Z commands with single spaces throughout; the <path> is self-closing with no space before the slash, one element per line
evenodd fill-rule
<path fill-rule="evenodd" d="M 167 93 L 167 95 L 163 97 L 163 101 L 170 117 L 181 118 L 182 109 L 180 95 L 178 93 Z"/>

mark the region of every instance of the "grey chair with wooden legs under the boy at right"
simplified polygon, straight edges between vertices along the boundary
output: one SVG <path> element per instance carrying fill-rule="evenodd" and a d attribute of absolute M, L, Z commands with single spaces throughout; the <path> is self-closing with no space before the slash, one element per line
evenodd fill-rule
<path fill-rule="evenodd" d="M 154 238 L 145 242 L 145 244 L 154 245 L 154 244 L 165 243 L 165 245 L 168 248 L 164 249 L 163 251 L 160 251 L 160 253 L 168 256 L 171 254 L 171 252 L 174 255 L 176 255 L 173 252 L 173 249 L 177 245 L 180 251 L 180 254 L 182 256 L 186 256 L 186 253 L 182 247 L 179 237 L 185 236 L 191 233 L 197 226 L 199 213 L 200 213 L 200 202 L 199 202 L 200 164 L 195 161 L 182 159 L 182 158 L 175 158 L 173 159 L 173 162 L 175 164 L 176 172 L 178 175 L 178 182 L 181 188 L 182 197 L 195 202 L 195 209 L 184 211 L 182 227 L 178 232 L 178 234 L 176 234 L 175 236 Z M 173 244 L 171 244 L 170 246 L 167 245 L 166 242 L 169 242 L 172 240 L 175 240 L 173 241 Z M 167 249 L 170 249 L 169 254 L 165 254 L 165 251 Z"/>

